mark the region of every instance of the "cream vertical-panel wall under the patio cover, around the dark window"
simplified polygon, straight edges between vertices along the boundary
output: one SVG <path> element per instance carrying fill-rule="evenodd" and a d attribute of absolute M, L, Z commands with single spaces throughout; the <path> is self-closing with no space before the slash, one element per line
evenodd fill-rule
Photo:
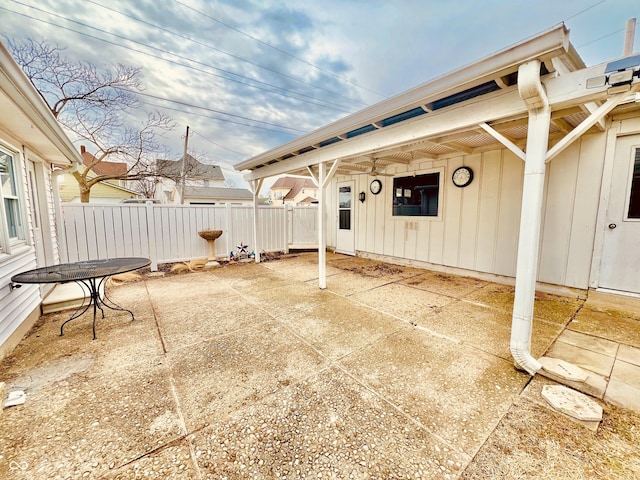
<path fill-rule="evenodd" d="M 585 135 L 548 164 L 538 280 L 587 288 L 606 136 Z M 451 173 L 470 166 L 474 181 L 466 188 L 451 183 Z M 422 173 L 443 168 L 441 219 L 391 215 L 392 177 L 382 193 L 369 192 L 368 175 L 356 175 L 356 250 L 470 271 L 515 276 L 524 162 L 508 150 L 447 160 L 416 160 L 399 167 Z M 336 182 L 328 188 L 328 244 L 336 242 Z"/>

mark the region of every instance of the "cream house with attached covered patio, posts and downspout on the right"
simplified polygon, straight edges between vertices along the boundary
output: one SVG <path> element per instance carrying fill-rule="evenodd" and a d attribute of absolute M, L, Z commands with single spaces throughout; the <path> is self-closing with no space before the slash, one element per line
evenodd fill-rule
<path fill-rule="evenodd" d="M 320 288 L 325 246 L 515 283 L 511 351 L 534 373 L 536 282 L 640 296 L 639 70 L 587 67 L 560 25 L 236 169 L 317 177 Z"/>

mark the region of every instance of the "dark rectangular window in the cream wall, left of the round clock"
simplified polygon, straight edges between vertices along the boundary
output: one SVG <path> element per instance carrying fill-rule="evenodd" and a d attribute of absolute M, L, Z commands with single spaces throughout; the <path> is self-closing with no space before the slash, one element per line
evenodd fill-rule
<path fill-rule="evenodd" d="M 393 215 L 437 217 L 440 172 L 393 179 Z"/>

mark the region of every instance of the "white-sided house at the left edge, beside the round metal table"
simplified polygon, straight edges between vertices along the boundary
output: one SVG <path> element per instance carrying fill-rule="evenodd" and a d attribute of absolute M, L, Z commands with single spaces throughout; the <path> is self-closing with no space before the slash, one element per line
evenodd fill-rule
<path fill-rule="evenodd" d="M 0 41 L 0 358 L 40 316 L 52 286 L 13 288 L 11 277 L 60 262 L 60 208 L 52 167 L 82 158 Z M 59 171 L 59 170 L 58 170 Z"/>

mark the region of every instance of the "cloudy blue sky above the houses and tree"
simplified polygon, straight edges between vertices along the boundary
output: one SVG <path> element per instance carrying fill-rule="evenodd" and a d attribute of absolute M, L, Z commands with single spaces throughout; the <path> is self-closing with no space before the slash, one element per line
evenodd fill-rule
<path fill-rule="evenodd" d="M 189 153 L 246 187 L 234 164 L 559 23 L 587 65 L 618 58 L 638 16 L 632 0 L 0 0 L 0 34 L 142 67 L 132 121 L 169 115 L 175 159 L 189 126 Z"/>

